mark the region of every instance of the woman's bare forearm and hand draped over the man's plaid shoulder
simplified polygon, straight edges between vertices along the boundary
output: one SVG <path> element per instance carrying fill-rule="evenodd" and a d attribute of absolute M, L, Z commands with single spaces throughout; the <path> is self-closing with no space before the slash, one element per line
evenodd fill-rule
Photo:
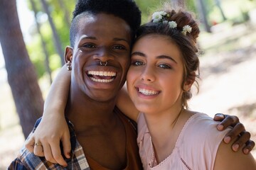
<path fill-rule="evenodd" d="M 60 152 L 60 142 L 63 144 L 65 157 L 70 157 L 70 133 L 65 120 L 65 106 L 70 90 L 71 72 L 66 67 L 60 69 L 57 77 L 50 86 L 49 94 L 44 104 L 44 112 L 41 123 L 36 131 L 26 141 L 26 148 L 34 154 L 46 157 L 53 163 L 66 166 Z M 46 128 L 47 127 L 47 128 Z M 41 143 L 34 146 L 35 143 Z"/>

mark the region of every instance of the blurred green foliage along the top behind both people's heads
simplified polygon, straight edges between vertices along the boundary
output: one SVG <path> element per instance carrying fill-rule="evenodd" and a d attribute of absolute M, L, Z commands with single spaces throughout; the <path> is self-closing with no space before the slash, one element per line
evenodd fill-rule
<path fill-rule="evenodd" d="M 30 1 L 28 1 L 28 7 L 31 9 Z M 55 50 L 55 45 L 53 41 L 52 30 L 50 29 L 46 14 L 43 12 L 43 7 L 40 1 L 33 0 L 36 3 L 36 8 L 39 11 L 37 13 L 38 21 L 41 23 L 41 33 L 43 35 L 43 40 L 46 42 L 46 47 L 48 50 L 48 54 L 50 57 L 50 68 L 52 70 L 57 69 L 61 66 L 60 57 L 58 56 L 58 52 Z M 142 11 L 142 23 L 146 23 L 150 20 L 151 14 L 154 11 L 161 9 L 165 2 L 171 0 L 135 0 L 138 4 L 139 8 Z M 196 11 L 195 1 L 197 0 L 184 0 L 186 2 L 186 8 L 189 11 L 193 11 L 194 13 L 198 13 Z M 220 0 L 221 1 L 221 0 Z M 63 6 L 61 6 L 60 2 L 63 2 Z M 221 23 L 223 22 L 223 17 L 220 15 L 220 10 L 216 6 L 216 0 L 203 0 L 205 6 L 208 22 L 210 25 L 214 22 Z M 245 0 L 227 0 L 221 1 L 221 6 L 225 13 L 225 16 L 228 20 L 233 22 L 240 22 L 248 19 L 247 12 L 251 8 L 255 8 L 255 1 Z M 69 21 L 72 18 L 72 11 L 75 7 L 75 0 L 73 1 L 65 1 L 65 0 L 48 0 L 47 1 L 50 15 L 53 18 L 53 23 L 55 24 L 55 28 L 57 29 L 58 36 L 60 38 L 61 46 L 63 48 L 63 52 L 66 45 L 69 45 Z M 32 9 L 31 9 L 32 11 Z M 65 18 L 65 11 L 68 12 L 68 20 Z M 38 72 L 38 76 L 41 77 L 44 72 L 46 72 L 45 67 L 45 55 L 43 54 L 41 38 L 36 31 L 36 26 L 31 29 L 31 37 L 33 38 L 30 43 L 27 44 L 28 53 L 31 57 L 32 62 L 36 65 L 36 69 Z"/>

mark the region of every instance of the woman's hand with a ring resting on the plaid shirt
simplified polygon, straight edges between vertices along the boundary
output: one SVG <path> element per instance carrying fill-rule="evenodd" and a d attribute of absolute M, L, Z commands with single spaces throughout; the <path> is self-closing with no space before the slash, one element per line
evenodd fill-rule
<path fill-rule="evenodd" d="M 63 154 L 70 158 L 70 132 L 65 117 L 60 114 L 50 114 L 42 118 L 36 131 L 26 141 L 25 146 L 39 157 L 46 160 L 68 166 L 60 151 L 60 141 L 63 145 Z"/>

